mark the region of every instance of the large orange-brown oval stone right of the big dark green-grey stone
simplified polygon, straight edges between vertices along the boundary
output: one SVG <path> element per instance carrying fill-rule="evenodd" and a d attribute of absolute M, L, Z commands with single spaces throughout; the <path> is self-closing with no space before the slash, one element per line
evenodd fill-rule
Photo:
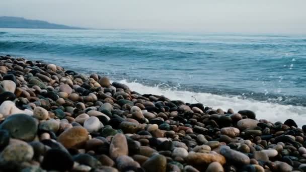
<path fill-rule="evenodd" d="M 89 139 L 88 132 L 83 127 L 72 127 L 62 132 L 57 141 L 65 148 L 79 148 L 85 145 Z"/>

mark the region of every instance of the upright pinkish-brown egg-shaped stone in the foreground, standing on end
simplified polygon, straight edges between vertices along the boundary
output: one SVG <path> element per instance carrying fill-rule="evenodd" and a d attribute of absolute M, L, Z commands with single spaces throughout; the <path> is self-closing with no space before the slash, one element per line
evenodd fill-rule
<path fill-rule="evenodd" d="M 116 159 L 121 155 L 128 155 L 128 146 L 125 136 L 121 133 L 116 134 L 109 146 L 110 157 Z"/>

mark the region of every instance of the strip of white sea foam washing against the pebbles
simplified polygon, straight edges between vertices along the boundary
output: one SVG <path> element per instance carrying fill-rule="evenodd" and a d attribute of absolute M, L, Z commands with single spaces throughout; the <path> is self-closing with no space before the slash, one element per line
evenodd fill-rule
<path fill-rule="evenodd" d="M 299 127 L 306 124 L 306 107 L 242 100 L 238 97 L 225 97 L 208 93 L 165 90 L 159 87 L 148 87 L 137 82 L 127 82 L 126 80 L 121 80 L 120 82 L 140 94 L 164 95 L 171 100 L 198 103 L 193 98 L 195 97 L 202 104 L 214 109 L 221 108 L 227 111 L 227 109 L 232 108 L 235 112 L 247 109 L 254 111 L 257 119 L 266 119 L 271 122 L 284 122 L 286 119 L 293 119 Z"/>

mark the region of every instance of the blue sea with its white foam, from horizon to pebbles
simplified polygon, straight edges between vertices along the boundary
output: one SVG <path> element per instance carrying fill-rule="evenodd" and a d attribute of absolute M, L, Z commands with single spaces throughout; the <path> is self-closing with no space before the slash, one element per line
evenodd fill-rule
<path fill-rule="evenodd" d="M 0 28 L 0 54 L 109 76 L 140 94 L 306 124 L 306 35 Z"/>

